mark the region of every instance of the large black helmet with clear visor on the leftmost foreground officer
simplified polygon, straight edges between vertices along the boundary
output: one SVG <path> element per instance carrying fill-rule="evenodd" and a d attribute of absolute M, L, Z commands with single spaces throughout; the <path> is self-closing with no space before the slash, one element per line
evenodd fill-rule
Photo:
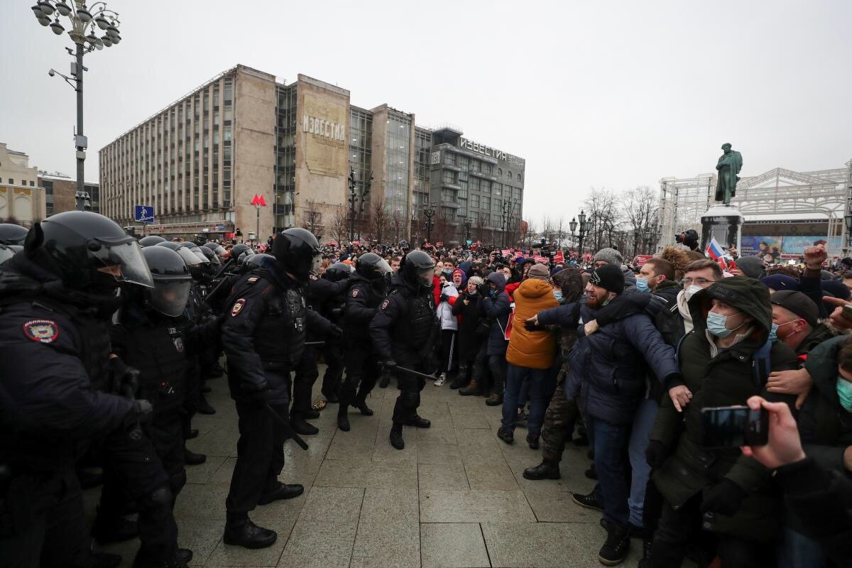
<path fill-rule="evenodd" d="M 151 288 L 153 279 L 136 239 L 91 211 L 65 211 L 33 225 L 25 250 L 43 249 L 72 290 L 113 295 L 117 282 Z"/>

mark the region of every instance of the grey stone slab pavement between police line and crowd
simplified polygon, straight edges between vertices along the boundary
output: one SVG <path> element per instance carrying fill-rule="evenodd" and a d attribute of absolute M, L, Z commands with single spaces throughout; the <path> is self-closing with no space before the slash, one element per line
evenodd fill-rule
<path fill-rule="evenodd" d="M 323 369 L 320 369 L 321 371 Z M 321 375 L 320 381 L 321 382 Z M 278 532 L 270 548 L 247 550 L 222 543 L 225 496 L 237 451 L 237 416 L 227 379 L 208 382 L 217 412 L 197 416 L 199 438 L 189 441 L 207 462 L 187 467 L 187 485 L 175 516 L 182 547 L 192 548 L 192 566 L 279 566 L 281 568 L 439 568 L 443 566 L 600 566 L 597 551 L 606 538 L 600 514 L 571 501 L 588 492 L 583 475 L 586 449 L 569 444 L 562 479 L 529 481 L 524 468 L 540 462 L 527 431 L 515 444 L 495 435 L 500 408 L 481 397 L 462 397 L 427 383 L 420 415 L 429 429 L 405 428 L 405 450 L 390 447 L 388 433 L 399 391 L 376 387 L 367 403 L 375 416 L 350 410 L 350 432 L 338 432 L 337 404 L 330 404 L 305 437 L 307 451 L 285 445 L 280 479 L 301 483 L 296 499 L 257 508 L 251 519 Z M 87 491 L 89 516 L 100 489 Z M 105 548 L 133 561 L 137 541 Z M 631 542 L 625 566 L 636 566 L 642 542 Z"/>

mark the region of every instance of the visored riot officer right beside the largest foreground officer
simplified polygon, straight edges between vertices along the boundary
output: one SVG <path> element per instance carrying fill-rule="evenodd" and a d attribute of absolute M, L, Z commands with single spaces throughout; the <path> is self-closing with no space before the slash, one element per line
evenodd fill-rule
<path fill-rule="evenodd" d="M 131 396 L 153 404 L 153 419 L 144 428 L 150 442 L 131 439 L 128 446 L 121 439 L 108 440 L 108 449 L 118 448 L 104 468 L 95 535 L 120 524 L 127 491 L 140 509 L 141 548 L 135 565 L 168 565 L 169 561 L 182 565 L 192 559 L 192 552 L 177 548 L 172 508 L 187 481 L 181 407 L 187 393 L 187 350 L 199 335 L 184 315 L 193 282 L 177 252 L 150 246 L 142 249 L 142 255 L 153 274 L 154 287 L 130 292 L 111 336 L 112 353 L 138 373 L 138 387 L 131 390 Z M 128 449 L 142 459 L 127 459 Z M 155 486 L 158 489 L 151 491 Z"/>

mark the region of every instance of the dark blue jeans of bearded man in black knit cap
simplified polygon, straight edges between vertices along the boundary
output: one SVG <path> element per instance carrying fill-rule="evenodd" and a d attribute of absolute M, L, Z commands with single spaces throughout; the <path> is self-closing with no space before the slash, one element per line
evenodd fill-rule
<path fill-rule="evenodd" d="M 603 503 L 603 518 L 626 529 L 629 513 L 625 454 L 630 426 L 611 424 L 593 416 L 585 416 L 585 421 L 595 446 L 595 496 Z"/>

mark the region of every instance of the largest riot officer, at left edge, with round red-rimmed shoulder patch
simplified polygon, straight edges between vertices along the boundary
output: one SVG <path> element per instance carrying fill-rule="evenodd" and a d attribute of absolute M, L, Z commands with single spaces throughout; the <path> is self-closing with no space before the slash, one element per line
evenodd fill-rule
<path fill-rule="evenodd" d="M 102 392 L 118 281 L 153 286 L 135 240 L 84 211 L 36 223 L 0 268 L 3 565 L 89 565 L 74 462 L 89 439 L 150 416 L 147 401 Z"/>

